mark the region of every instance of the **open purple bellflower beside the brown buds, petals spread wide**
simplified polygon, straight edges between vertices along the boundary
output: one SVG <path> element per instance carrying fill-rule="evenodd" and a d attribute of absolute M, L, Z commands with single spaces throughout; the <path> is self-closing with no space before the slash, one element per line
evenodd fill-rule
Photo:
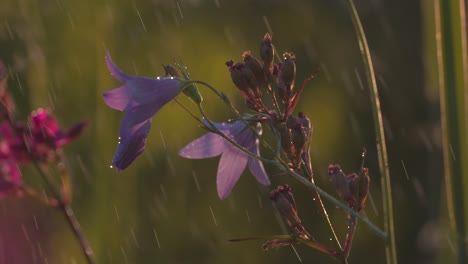
<path fill-rule="evenodd" d="M 204 120 L 204 123 L 209 126 Z M 243 146 L 255 155 L 260 155 L 259 139 L 255 133 L 240 120 L 233 123 L 213 123 L 213 125 L 224 135 L 230 137 L 239 145 Z M 257 133 L 261 135 L 262 127 L 257 123 Z M 221 155 L 218 165 L 216 185 L 219 198 L 225 199 L 239 180 L 245 167 L 258 182 L 269 185 L 270 180 L 260 160 L 250 157 L 236 146 L 232 145 L 222 136 L 208 133 L 189 143 L 179 151 L 179 155 L 188 159 L 205 159 Z"/>

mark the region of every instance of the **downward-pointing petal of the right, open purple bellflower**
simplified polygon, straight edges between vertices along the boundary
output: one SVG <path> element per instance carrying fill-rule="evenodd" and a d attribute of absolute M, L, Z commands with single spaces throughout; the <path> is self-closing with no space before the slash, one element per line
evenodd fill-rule
<path fill-rule="evenodd" d="M 231 193 L 247 165 L 247 159 L 247 155 L 235 147 L 228 148 L 221 155 L 216 178 L 218 195 L 221 200 Z"/>

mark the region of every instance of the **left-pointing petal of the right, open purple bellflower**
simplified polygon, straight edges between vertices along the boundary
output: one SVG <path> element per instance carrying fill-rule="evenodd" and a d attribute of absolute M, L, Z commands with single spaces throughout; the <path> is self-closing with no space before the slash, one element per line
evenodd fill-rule
<path fill-rule="evenodd" d="M 212 158 L 225 150 L 226 141 L 220 135 L 207 133 L 185 146 L 179 155 L 187 159 Z"/>

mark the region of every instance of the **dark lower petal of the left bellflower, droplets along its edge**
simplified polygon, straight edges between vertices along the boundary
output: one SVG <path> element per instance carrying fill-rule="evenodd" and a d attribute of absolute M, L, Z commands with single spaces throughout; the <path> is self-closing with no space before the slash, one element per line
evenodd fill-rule
<path fill-rule="evenodd" d="M 112 166 L 119 172 L 127 168 L 145 149 L 151 119 L 141 121 L 140 118 L 135 118 L 137 114 L 132 112 L 125 115 L 120 126 L 120 142 L 112 160 Z"/>

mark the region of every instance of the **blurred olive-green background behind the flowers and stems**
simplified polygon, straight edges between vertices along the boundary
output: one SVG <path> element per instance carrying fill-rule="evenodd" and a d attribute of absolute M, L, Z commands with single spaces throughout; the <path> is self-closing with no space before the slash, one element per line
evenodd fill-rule
<path fill-rule="evenodd" d="M 431 43 L 423 27 L 433 19 L 423 1 L 368 0 L 357 8 L 375 63 L 388 139 L 396 242 L 400 263 L 432 263 L 448 247 L 439 224 L 442 154 L 439 97 L 428 72 Z M 263 252 L 261 241 L 228 239 L 287 232 L 268 198 L 271 188 L 293 186 L 310 233 L 334 246 L 328 227 L 303 186 L 268 168 L 272 186 L 246 172 L 225 201 L 216 194 L 218 159 L 187 160 L 177 151 L 204 133 L 177 104 L 153 120 L 145 152 L 123 173 L 109 168 L 123 113 L 108 108 L 104 91 L 120 86 L 109 74 L 105 50 L 130 74 L 163 75 L 162 64 L 181 59 L 194 79 L 242 98 L 224 63 L 258 56 L 265 32 L 279 53 L 293 51 L 297 83 L 321 69 L 297 110 L 314 125 L 316 183 L 334 190 L 326 172 L 339 163 L 359 168 L 368 149 L 373 204 L 365 214 L 382 226 L 380 177 L 369 94 L 359 46 L 343 1 L 122 1 L 2 0 L 0 59 L 25 119 L 43 107 L 64 127 L 86 120 L 85 133 L 65 148 L 73 174 L 73 207 L 98 263 L 330 263 L 303 246 Z M 233 117 L 207 90 L 205 107 L 215 121 Z M 179 99 L 190 105 L 184 96 Z M 266 133 L 268 134 L 268 133 Z M 266 153 L 266 151 L 265 151 Z M 33 168 L 25 181 L 43 188 Z M 346 216 L 326 203 L 339 236 Z M 0 263 L 84 263 L 62 216 L 28 198 L 0 201 Z M 299 257 L 298 257 L 299 256 Z M 350 263 L 384 263 L 384 243 L 360 224 Z"/>

